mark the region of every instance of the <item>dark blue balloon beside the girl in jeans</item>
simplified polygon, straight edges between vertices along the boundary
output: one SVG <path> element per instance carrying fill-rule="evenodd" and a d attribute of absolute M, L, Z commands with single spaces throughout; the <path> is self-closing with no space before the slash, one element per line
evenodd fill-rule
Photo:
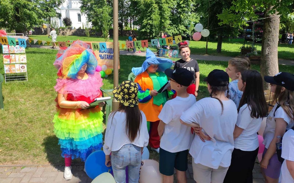
<path fill-rule="evenodd" d="M 98 175 L 111 171 L 111 167 L 105 166 L 105 154 L 102 150 L 91 153 L 85 162 L 86 174 L 95 179 Z"/>

